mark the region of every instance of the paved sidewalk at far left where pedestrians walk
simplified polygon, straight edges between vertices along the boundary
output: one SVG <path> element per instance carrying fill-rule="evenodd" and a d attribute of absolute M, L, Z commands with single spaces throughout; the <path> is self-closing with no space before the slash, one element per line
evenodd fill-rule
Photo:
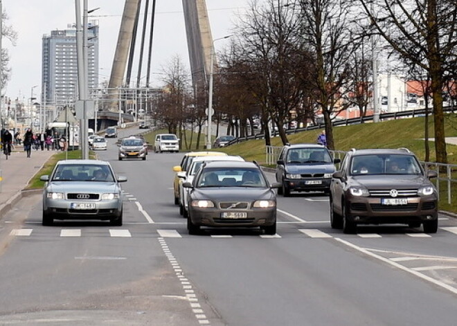
<path fill-rule="evenodd" d="M 0 155 L 0 218 L 21 199 L 23 190 L 28 181 L 42 168 L 44 163 L 55 154 L 55 151 L 32 151 L 31 157 L 26 157 L 26 152 L 12 152 L 5 159 Z"/>

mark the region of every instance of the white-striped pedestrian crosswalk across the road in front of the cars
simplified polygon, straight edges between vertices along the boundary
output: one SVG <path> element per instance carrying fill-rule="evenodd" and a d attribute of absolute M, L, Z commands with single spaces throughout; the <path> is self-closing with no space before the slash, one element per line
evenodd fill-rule
<path fill-rule="evenodd" d="M 388 233 L 388 234 L 377 234 L 377 233 L 357 233 L 355 235 L 344 235 L 343 233 L 326 233 L 323 230 L 319 230 L 316 228 L 299 228 L 293 230 L 285 231 L 285 234 L 276 234 L 276 235 L 253 235 L 253 237 L 260 237 L 261 239 L 281 239 L 283 237 L 290 237 L 295 235 L 303 235 L 303 237 L 309 239 L 332 239 L 335 237 L 359 237 L 361 239 L 380 239 L 383 237 L 393 237 L 393 236 L 406 236 L 411 238 L 422 238 L 427 239 L 431 237 L 439 236 L 442 231 L 445 231 L 446 234 L 449 235 L 457 235 L 457 227 L 442 227 L 437 234 L 429 235 L 426 233 Z M 231 239 L 238 237 L 236 234 L 221 234 L 220 230 L 217 230 L 217 234 L 210 234 L 208 233 L 211 238 L 213 239 Z M 80 228 L 55 228 L 55 231 L 49 233 L 43 233 L 43 229 L 33 229 L 33 228 L 14 228 L 10 230 L 10 236 L 12 237 L 33 237 L 34 235 L 55 235 L 58 237 L 66 238 L 66 237 L 90 237 L 94 235 L 94 233 L 87 229 L 80 229 Z M 114 238 L 132 238 L 136 236 L 145 237 L 145 235 L 150 235 L 151 237 L 161 237 L 161 238 L 183 238 L 183 237 L 192 237 L 192 235 L 188 235 L 186 230 L 174 230 L 174 229 L 157 229 L 152 231 L 151 233 L 144 233 L 144 230 L 141 233 L 135 233 L 134 230 L 129 229 L 103 229 L 100 233 L 100 230 L 97 230 L 97 236 L 107 236 L 107 237 L 114 237 Z"/>

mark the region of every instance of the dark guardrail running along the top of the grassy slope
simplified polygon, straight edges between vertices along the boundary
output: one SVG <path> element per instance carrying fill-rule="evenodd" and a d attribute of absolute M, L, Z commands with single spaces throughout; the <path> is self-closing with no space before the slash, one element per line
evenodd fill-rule
<path fill-rule="evenodd" d="M 443 111 L 445 112 L 454 112 L 457 110 L 457 107 L 445 107 L 443 108 Z M 429 115 L 432 115 L 433 112 L 429 110 Z M 400 112 L 390 112 L 387 114 L 379 114 L 379 120 L 397 120 L 397 118 L 415 118 L 416 116 L 424 116 L 425 115 L 425 109 L 418 109 L 418 110 L 409 110 L 409 111 L 400 111 Z M 334 127 L 337 126 L 347 126 L 347 125 L 358 125 L 360 123 L 365 123 L 367 121 L 373 120 L 373 116 L 364 116 L 360 118 L 350 118 L 350 119 L 343 119 L 343 120 L 333 120 L 332 125 Z M 322 129 L 325 127 L 325 124 L 319 123 L 318 125 L 312 125 L 308 127 L 303 127 L 303 128 L 296 128 L 296 129 L 287 129 L 285 133 L 287 135 L 289 134 L 296 134 L 297 132 L 306 132 L 307 130 L 316 130 L 316 129 Z M 271 133 L 272 137 L 279 136 L 279 132 L 274 131 Z M 226 144 L 226 146 L 230 146 L 233 144 L 238 144 L 243 141 L 249 141 L 252 139 L 264 139 L 265 134 L 255 134 L 251 136 L 245 136 L 245 137 L 238 137 L 233 139 L 233 141 L 230 141 Z"/>

